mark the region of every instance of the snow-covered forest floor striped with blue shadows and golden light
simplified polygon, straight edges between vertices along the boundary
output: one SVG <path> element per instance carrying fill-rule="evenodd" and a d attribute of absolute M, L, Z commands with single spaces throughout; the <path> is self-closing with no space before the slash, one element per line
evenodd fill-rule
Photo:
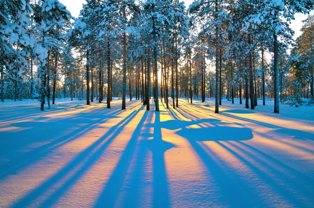
<path fill-rule="evenodd" d="M 314 207 L 314 107 L 56 103 L 0 104 L 0 207 Z"/>

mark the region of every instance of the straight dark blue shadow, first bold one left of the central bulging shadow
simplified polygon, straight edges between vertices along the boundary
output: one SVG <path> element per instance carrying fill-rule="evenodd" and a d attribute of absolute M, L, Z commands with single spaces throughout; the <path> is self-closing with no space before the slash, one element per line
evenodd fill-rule
<path fill-rule="evenodd" d="M 144 106 L 142 105 L 142 109 Z M 124 149 L 119 162 L 111 174 L 110 179 L 107 181 L 104 190 L 101 192 L 95 207 L 114 207 L 116 204 L 116 199 L 118 197 L 120 188 L 123 184 L 123 179 L 125 178 L 127 171 L 130 167 L 131 160 L 134 155 L 134 150 L 138 142 L 138 138 L 141 135 L 141 129 L 147 118 L 149 111 L 145 111 L 143 117 L 141 118 L 138 126 L 134 130 L 134 133 L 127 143 L 126 148 Z"/>

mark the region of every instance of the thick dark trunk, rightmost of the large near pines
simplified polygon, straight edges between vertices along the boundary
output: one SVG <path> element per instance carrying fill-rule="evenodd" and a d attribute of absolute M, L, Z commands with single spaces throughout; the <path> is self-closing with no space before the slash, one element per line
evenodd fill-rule
<path fill-rule="evenodd" d="M 278 41 L 274 34 L 274 112 L 279 113 Z"/>

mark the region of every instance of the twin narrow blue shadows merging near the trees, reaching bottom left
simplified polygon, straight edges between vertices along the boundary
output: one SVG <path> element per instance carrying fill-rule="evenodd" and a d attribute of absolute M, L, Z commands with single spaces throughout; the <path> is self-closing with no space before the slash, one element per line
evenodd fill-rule
<path fill-rule="evenodd" d="M 143 107 L 141 107 L 143 108 Z M 79 167 L 79 170 L 63 185 L 63 189 L 57 190 L 54 194 L 52 194 L 49 199 L 47 199 L 44 204 L 51 205 L 54 201 L 56 201 L 62 193 L 64 193 L 68 187 L 70 187 L 76 179 L 79 178 L 86 170 L 98 159 L 99 155 L 106 149 L 106 147 L 116 138 L 116 135 L 121 132 L 124 126 L 130 122 L 135 115 L 141 110 L 133 111 L 127 117 L 125 117 L 122 121 L 120 121 L 116 126 L 111 127 L 108 132 L 99 140 L 91 144 L 88 148 L 86 148 L 83 152 L 79 153 L 75 158 L 73 158 L 66 166 L 60 169 L 56 174 L 54 174 L 50 179 L 46 180 L 42 183 L 39 187 L 36 187 L 34 190 L 30 191 L 26 196 L 22 199 L 18 200 L 13 207 L 21 207 L 29 205 L 33 200 L 38 198 L 41 194 L 45 193 L 47 190 L 50 189 L 51 186 L 56 184 L 58 181 L 62 180 L 65 176 L 67 176 L 73 169 L 77 168 L 81 163 L 84 163 L 88 156 L 87 162 L 83 164 L 82 167 Z M 108 138 L 112 133 L 115 133 L 115 136 Z M 101 144 L 102 142 L 105 142 Z M 93 153 L 95 148 L 100 147 Z"/>

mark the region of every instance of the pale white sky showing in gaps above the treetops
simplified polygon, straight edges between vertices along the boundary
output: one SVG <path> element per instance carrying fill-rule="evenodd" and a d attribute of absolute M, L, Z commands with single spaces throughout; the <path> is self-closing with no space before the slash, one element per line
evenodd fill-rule
<path fill-rule="evenodd" d="M 67 7 L 67 9 L 71 12 L 72 16 L 77 18 L 80 10 L 82 9 L 82 5 L 86 3 L 85 0 L 59 0 L 63 5 Z M 185 5 L 188 7 L 193 0 L 185 0 Z M 314 14 L 314 11 L 311 11 L 311 14 Z M 294 39 L 301 35 L 300 29 L 302 27 L 302 20 L 306 19 L 307 15 L 297 13 L 295 14 L 295 20 L 291 21 L 290 27 L 295 31 Z"/>

